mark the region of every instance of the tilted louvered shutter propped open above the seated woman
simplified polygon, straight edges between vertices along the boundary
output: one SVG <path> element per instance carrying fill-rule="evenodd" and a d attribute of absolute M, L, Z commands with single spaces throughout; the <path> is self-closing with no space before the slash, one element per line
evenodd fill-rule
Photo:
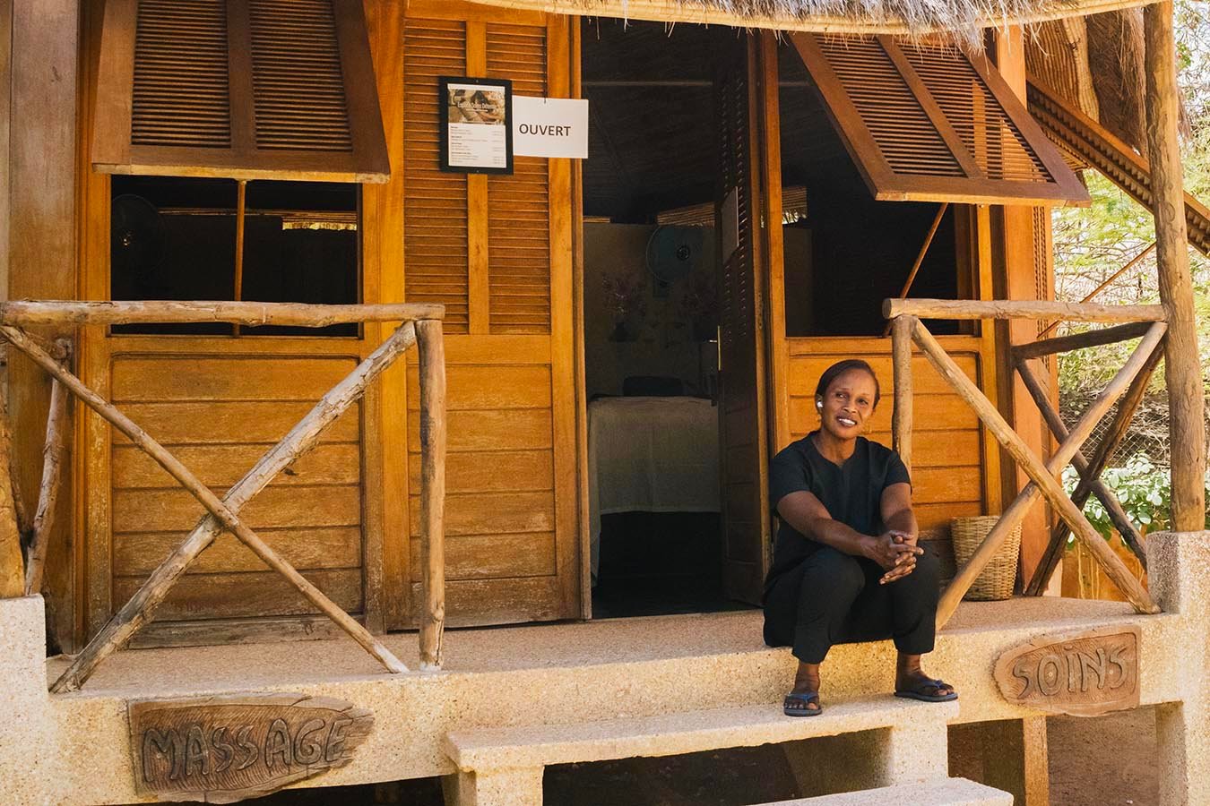
<path fill-rule="evenodd" d="M 791 39 L 875 198 L 1089 202 L 985 57 L 889 36 Z"/>

